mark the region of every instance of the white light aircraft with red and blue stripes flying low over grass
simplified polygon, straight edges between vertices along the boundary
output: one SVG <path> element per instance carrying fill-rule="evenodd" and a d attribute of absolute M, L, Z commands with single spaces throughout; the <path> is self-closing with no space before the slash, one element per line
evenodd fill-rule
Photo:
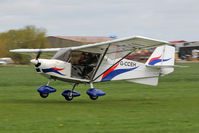
<path fill-rule="evenodd" d="M 80 93 L 74 91 L 79 83 L 90 84 L 87 94 L 92 100 L 105 95 L 94 88 L 93 83 L 126 80 L 147 85 L 157 85 L 159 76 L 174 71 L 175 48 L 167 41 L 135 36 L 77 47 L 47 49 L 14 49 L 10 52 L 36 54 L 31 63 L 37 73 L 49 79 L 37 91 L 42 98 L 56 89 L 49 86 L 50 80 L 74 83 L 71 90 L 62 95 L 70 101 Z M 126 57 L 136 50 L 156 48 L 146 63 L 132 61 Z M 55 53 L 51 59 L 40 59 L 40 55 Z"/>

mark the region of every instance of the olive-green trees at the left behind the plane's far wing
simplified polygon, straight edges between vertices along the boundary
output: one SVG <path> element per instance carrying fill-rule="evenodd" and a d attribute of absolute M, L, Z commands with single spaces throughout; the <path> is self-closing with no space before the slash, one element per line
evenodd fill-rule
<path fill-rule="evenodd" d="M 0 58 L 11 57 L 18 64 L 29 63 L 31 56 L 9 53 L 9 50 L 46 47 L 49 47 L 49 42 L 46 37 L 46 30 L 43 28 L 30 25 L 22 29 L 0 33 Z"/>

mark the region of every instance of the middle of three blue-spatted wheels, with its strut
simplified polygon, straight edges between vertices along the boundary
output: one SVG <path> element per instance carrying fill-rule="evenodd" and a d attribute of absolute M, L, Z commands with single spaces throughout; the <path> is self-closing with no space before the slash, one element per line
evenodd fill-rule
<path fill-rule="evenodd" d="M 65 90 L 62 92 L 62 96 L 64 96 L 67 101 L 71 101 L 71 100 L 73 100 L 74 97 L 80 96 L 80 93 L 74 91 L 74 89 L 77 85 L 78 85 L 78 83 L 75 83 L 73 85 L 72 90 Z"/>

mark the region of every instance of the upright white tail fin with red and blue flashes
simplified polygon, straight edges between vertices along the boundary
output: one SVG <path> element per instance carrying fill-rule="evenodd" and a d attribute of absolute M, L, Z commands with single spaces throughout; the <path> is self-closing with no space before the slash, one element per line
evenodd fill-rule
<path fill-rule="evenodd" d="M 145 63 L 148 67 L 160 68 L 160 75 L 174 71 L 175 48 L 164 45 L 157 47 Z"/>

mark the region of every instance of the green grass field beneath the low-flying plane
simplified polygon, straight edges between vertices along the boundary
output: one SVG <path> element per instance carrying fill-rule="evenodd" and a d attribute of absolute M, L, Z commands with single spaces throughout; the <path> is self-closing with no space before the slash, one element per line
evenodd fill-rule
<path fill-rule="evenodd" d="M 72 84 L 52 82 L 57 89 L 42 99 L 36 89 L 47 79 L 32 66 L 0 66 L 0 133 L 198 133 L 199 63 L 180 64 L 161 77 L 157 87 L 105 82 L 97 101 L 79 85 L 81 97 L 65 101 L 61 92 Z"/>

